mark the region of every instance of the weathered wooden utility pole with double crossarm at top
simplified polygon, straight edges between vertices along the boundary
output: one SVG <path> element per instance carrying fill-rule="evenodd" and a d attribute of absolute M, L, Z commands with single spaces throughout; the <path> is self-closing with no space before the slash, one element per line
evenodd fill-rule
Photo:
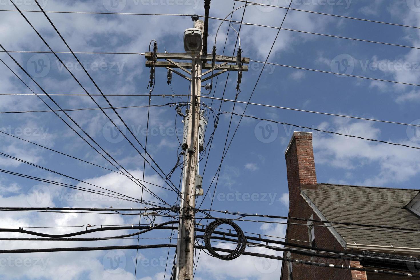
<path fill-rule="evenodd" d="M 205 1 L 205 7 L 210 8 L 210 0 Z M 207 9 L 208 9 L 207 8 Z M 200 29 L 205 34 L 205 24 L 198 20 L 198 16 L 192 16 L 194 28 Z M 204 38 L 203 38 L 204 39 Z M 206 40 L 207 41 L 207 40 Z M 204 114 L 200 112 L 200 94 L 202 82 L 209 81 L 215 76 L 226 73 L 227 71 L 248 71 L 249 58 L 241 58 L 237 61 L 236 57 L 224 55 L 207 55 L 204 50 L 205 45 L 199 55 L 192 57 L 187 53 L 168 53 L 168 52 L 146 52 L 146 66 L 151 68 L 168 69 L 168 77 L 171 73 L 191 82 L 191 98 L 189 109 L 185 111 L 184 131 L 181 144 L 184 150 L 184 170 L 182 173 L 182 191 L 180 201 L 180 217 L 178 227 L 178 243 L 176 247 L 176 270 L 173 271 L 174 280 L 192 280 L 194 264 L 194 234 L 195 234 L 195 199 L 196 199 L 196 176 L 198 175 L 198 159 L 200 152 L 200 128 Z M 165 61 L 159 61 L 165 60 Z M 175 61 L 178 60 L 178 61 Z M 189 62 L 179 62 L 179 60 L 191 60 Z M 214 63 L 212 63 L 212 60 Z M 219 63 L 219 64 L 218 64 Z M 191 69 L 191 71 L 189 70 Z M 203 70 L 206 70 L 203 72 Z M 169 74 L 170 73 L 170 74 Z M 170 83 L 170 80 L 169 80 Z M 207 85 L 206 85 L 207 88 Z M 211 88 L 211 86 L 210 86 Z M 202 113 L 202 114 L 200 114 Z M 202 122 L 203 123 L 203 122 Z M 184 139 L 186 138 L 186 139 Z M 202 148 L 202 147 L 201 147 Z M 201 188 L 201 186 L 200 186 Z"/>

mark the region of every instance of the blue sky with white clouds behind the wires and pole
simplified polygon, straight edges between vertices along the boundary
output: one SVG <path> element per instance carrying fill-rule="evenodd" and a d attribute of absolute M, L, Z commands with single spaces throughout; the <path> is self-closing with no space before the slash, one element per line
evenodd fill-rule
<path fill-rule="evenodd" d="M 122 13 L 175 13 L 204 14 L 203 1 L 200 0 L 114 0 L 97 1 L 41 1 L 45 10 L 122 12 Z M 273 5 L 287 6 L 287 0 L 265 1 Z M 420 3 L 417 0 L 302 0 L 294 1 L 292 8 L 332 13 L 349 17 L 366 18 L 396 24 L 420 26 Z M 37 10 L 32 1 L 16 2 L 22 10 Z M 236 3 L 239 7 L 244 3 Z M 0 1 L 1 9 L 14 10 L 7 1 Z M 211 16 L 224 18 L 233 8 L 234 1 L 213 0 Z M 242 9 L 234 13 L 234 20 L 241 20 Z M 1 11 L 0 43 L 6 50 L 12 51 L 47 51 L 32 28 L 18 12 Z M 281 24 L 284 9 L 249 6 L 244 14 L 244 22 L 278 27 Z M 25 15 L 35 28 L 47 40 L 55 51 L 68 51 L 61 39 L 42 13 Z M 151 39 L 156 39 L 159 51 L 184 52 L 182 34 L 184 29 L 192 27 L 188 16 L 138 16 L 138 15 L 93 15 L 49 13 L 51 20 L 66 39 L 72 50 L 79 52 L 146 52 Z M 210 20 L 209 50 L 214 42 L 214 35 L 220 21 Z M 419 29 L 386 24 L 356 21 L 351 19 L 323 16 L 291 10 L 283 24 L 285 29 L 331 34 L 377 42 L 387 42 L 406 46 L 419 46 Z M 220 28 L 217 38 L 218 54 L 223 50 L 228 24 Z M 267 58 L 277 29 L 244 25 L 241 29 L 241 47 L 243 56 L 252 60 Z M 229 31 L 226 55 L 236 53 L 234 45 L 236 35 Z M 56 94 L 83 94 L 83 90 L 69 75 L 66 69 L 52 54 L 34 54 L 13 52 L 13 57 L 47 91 Z M 60 58 L 71 68 L 91 94 L 99 94 L 81 71 L 74 58 L 69 54 L 60 54 Z M 78 54 L 78 58 L 88 68 L 105 94 L 147 94 L 149 68 L 144 66 L 141 55 L 98 55 Z M 37 93 L 39 88 L 18 69 L 7 54 L 0 53 L 0 58 L 29 84 Z M 35 71 L 38 61 L 47 66 L 46 71 Z M 341 73 L 365 76 L 376 79 L 419 84 L 420 52 L 418 49 L 357 42 L 347 39 L 303 34 L 281 30 L 268 59 L 271 63 L 292 65 L 322 71 L 341 71 Z M 44 64 L 45 63 L 45 64 Z M 41 64 L 38 66 L 41 67 Z M 262 69 L 262 64 L 251 63 L 248 72 L 244 72 L 241 92 L 238 100 L 247 101 Z M 38 68 L 38 70 L 41 68 Z M 3 64 L 0 65 L 0 93 L 31 93 Z M 37 73 L 38 72 L 38 73 Z M 220 75 L 218 84 L 213 85 L 215 97 L 221 97 L 227 75 Z M 215 80 L 214 80 L 215 83 Z M 236 73 L 229 75 L 225 98 L 234 99 L 236 91 Z M 172 89 L 176 94 L 187 94 L 187 81 L 173 75 Z M 166 70 L 157 69 L 154 94 L 172 94 L 166 84 Z M 42 97 L 50 106 L 47 97 Z M 63 108 L 95 107 L 89 97 L 58 96 L 55 101 Z M 95 100 L 106 107 L 102 97 Z M 109 97 L 113 106 L 147 105 L 147 97 Z M 186 101 L 186 99 L 183 99 Z M 173 101 L 181 101 L 174 98 Z M 170 98 L 152 97 L 152 105 L 172 102 Z M 210 105 L 211 100 L 204 102 Z M 314 110 L 326 113 L 352 115 L 378 120 L 391 120 L 402 123 L 420 124 L 417 107 L 420 91 L 417 86 L 373 81 L 353 77 L 339 77 L 333 74 L 297 70 L 276 65 L 266 65 L 257 84 L 251 102 Z M 212 105 L 218 109 L 218 101 Z M 47 110 L 36 96 L 1 96 L 1 111 L 11 110 Z M 55 108 L 55 107 L 53 107 Z M 231 111 L 232 104 L 224 102 L 221 110 Z M 237 104 L 235 113 L 243 113 L 244 105 Z M 118 112 L 130 128 L 135 131 L 140 143 L 144 144 L 147 120 L 147 108 L 120 109 Z M 107 110 L 112 119 L 117 119 L 112 111 Z M 209 112 L 207 112 L 209 113 Z M 62 113 L 60 116 L 66 118 Z M 362 136 L 383 141 L 418 146 L 420 138 L 415 127 L 378 123 L 367 120 L 316 115 L 267 107 L 249 105 L 246 115 L 258 118 L 293 123 L 300 126 L 321 128 L 344 134 Z M 109 120 L 100 111 L 75 111 L 69 115 L 89 133 L 98 144 L 112 154 L 130 173 L 137 178 L 143 174 L 142 157 L 123 138 L 110 140 Z M 203 188 L 207 191 L 215 176 L 226 140 L 230 116 L 221 115 L 207 162 L 203 178 Z M 230 137 L 239 122 L 234 116 Z M 262 137 L 260 127 L 268 128 L 268 123 L 244 118 L 228 150 L 220 172 L 218 186 L 213 201 L 213 209 L 287 215 L 288 188 L 284 150 L 294 130 L 290 126 L 271 124 L 273 133 L 270 139 Z M 81 140 L 53 113 L 1 114 L 1 131 L 19 136 L 29 141 L 42 144 L 60 152 L 80 157 L 96 164 L 113 168 L 92 148 Z M 174 107 L 152 107 L 150 109 L 150 132 L 147 150 L 160 167 L 168 173 L 176 163 L 178 140 L 176 129 L 182 128 L 181 118 L 176 118 Z M 209 129 L 212 131 L 213 120 L 210 118 Z M 142 132 L 143 131 L 143 132 Z M 208 132 L 207 131 L 207 132 Z M 267 131 L 265 131 L 267 132 Z M 206 135 L 206 141 L 210 136 Z M 181 137 L 181 135 L 178 135 Z M 87 165 L 68 157 L 34 146 L 5 134 L 1 135 L 1 152 L 34 164 L 53 169 L 57 172 L 79 178 L 97 186 L 106 187 L 123 194 L 139 197 L 141 189 L 124 176 Z M 134 141 L 131 136 L 127 136 Z M 314 132 L 315 163 L 318 182 L 341 183 L 365 186 L 383 186 L 398 188 L 419 188 L 420 160 L 414 149 L 396 147 L 377 142 L 364 141 L 343 136 Z M 138 149 L 141 150 L 139 145 Z M 208 152 L 208 151 L 207 151 Z M 207 155 L 206 155 L 207 157 Z M 205 161 L 200 162 L 200 172 Z M 44 170 L 26 165 L 16 160 L 3 157 L 1 169 L 24 173 L 77 185 L 78 182 Z M 178 185 L 179 168 L 172 175 L 171 181 Z M 145 180 L 164 186 L 164 182 L 146 165 Z M 78 186 L 87 186 L 79 183 Z M 173 192 L 162 188 L 150 188 L 165 201 L 175 204 Z M 210 194 L 213 193 L 214 184 Z M 29 179 L 13 175 L 0 174 L 0 201 L 3 207 L 136 207 L 137 204 L 94 195 L 81 195 L 75 190 L 58 186 L 39 184 Z M 42 194 L 41 200 L 39 198 Z M 44 196 L 45 195 L 45 196 Z M 254 199 L 252 199 L 253 197 Z M 37 199 L 37 200 L 35 200 Z M 144 199 L 156 201 L 150 195 Z M 328 199 L 328 198 L 326 198 Z M 201 203 L 199 198 L 198 203 Z M 206 197 L 202 207 L 208 209 L 211 199 Z M 123 225 L 138 222 L 137 217 L 94 214 L 60 214 L 7 212 L 0 217 L 2 227 L 47 227 Z M 165 219 L 159 218 L 157 222 Z M 264 225 L 241 223 L 249 232 L 273 236 L 284 236 L 284 225 Z M 67 233 L 83 228 L 38 229 L 48 233 Z M 37 230 L 37 229 L 35 229 Z M 119 233 L 115 233 L 119 234 Z M 23 235 L 3 233 L 2 237 Z M 99 235 L 94 235 L 95 237 Z M 109 236 L 109 233 L 101 236 Z M 169 232 L 154 230 L 142 235 L 142 238 L 168 238 Z M 172 242 L 174 242 L 173 240 Z M 117 241 L 0 241 L 3 249 L 76 247 L 76 246 L 111 246 L 134 245 L 136 239 Z M 84 243 L 83 243 L 84 242 Z M 168 239 L 140 239 L 140 244 L 167 243 Z M 220 246 L 225 246 L 220 244 Z M 252 249 L 256 252 L 273 254 L 264 249 Z M 197 251 L 198 253 L 198 251 Z M 11 254 L 0 256 L 2 279 L 133 279 L 135 250 L 127 251 L 92 251 L 50 254 Z M 136 279 L 163 279 L 167 259 L 167 249 L 148 249 L 139 251 Z M 134 257 L 134 261 L 133 261 Z M 169 254 L 171 263 L 173 250 Z M 113 259 L 117 266 L 110 266 Z M 26 262 L 26 263 L 25 263 Z M 24 263 L 24 264 L 23 264 Z M 280 277 L 280 262 L 264 263 L 260 258 L 241 256 L 232 262 L 223 262 L 201 254 L 197 279 L 276 279 Z M 217 269 L 216 269 L 217 268 Z M 170 270 L 170 269 L 168 269 Z M 168 273 L 166 278 L 168 278 Z"/>

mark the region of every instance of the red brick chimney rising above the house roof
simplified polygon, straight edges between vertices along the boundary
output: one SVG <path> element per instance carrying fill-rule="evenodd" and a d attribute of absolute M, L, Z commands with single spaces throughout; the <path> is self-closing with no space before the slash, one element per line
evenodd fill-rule
<path fill-rule="evenodd" d="M 317 189 L 312 133 L 294 132 L 286 152 L 289 199 L 300 196 L 300 189 Z"/>

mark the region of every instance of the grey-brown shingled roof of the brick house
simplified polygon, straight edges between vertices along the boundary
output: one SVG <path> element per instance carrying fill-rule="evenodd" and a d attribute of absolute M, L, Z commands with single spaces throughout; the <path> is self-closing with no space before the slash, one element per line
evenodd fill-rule
<path fill-rule="evenodd" d="M 419 190 L 318 184 L 301 195 L 329 221 L 387 225 L 420 230 L 420 218 L 404 208 Z M 312 202 L 312 203 L 311 203 Z M 314 207 L 315 205 L 315 207 Z M 419 232 L 358 230 L 333 225 L 346 247 L 354 244 L 420 248 Z M 344 244 L 343 244 L 344 245 Z"/>

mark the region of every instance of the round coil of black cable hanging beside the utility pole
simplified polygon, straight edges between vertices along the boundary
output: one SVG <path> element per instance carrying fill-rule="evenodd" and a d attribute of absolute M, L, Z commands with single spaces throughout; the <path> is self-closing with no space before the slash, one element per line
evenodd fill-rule
<path fill-rule="evenodd" d="M 217 253 L 213 249 L 210 243 L 212 233 L 215 231 L 216 228 L 218 228 L 220 225 L 223 225 L 223 224 L 230 225 L 232 228 L 234 228 L 238 236 L 238 244 L 236 245 L 236 248 L 230 254 L 227 254 L 227 255 L 222 255 L 222 254 Z M 205 243 L 207 251 L 209 251 L 209 253 L 212 256 L 219 259 L 223 259 L 225 261 L 231 261 L 233 259 L 236 259 L 245 251 L 245 248 L 247 246 L 247 238 L 245 237 L 244 232 L 241 230 L 241 228 L 239 228 L 239 225 L 236 225 L 234 222 L 230 220 L 219 219 L 219 220 L 215 220 L 211 222 L 207 226 L 204 232 L 204 243 Z"/>

